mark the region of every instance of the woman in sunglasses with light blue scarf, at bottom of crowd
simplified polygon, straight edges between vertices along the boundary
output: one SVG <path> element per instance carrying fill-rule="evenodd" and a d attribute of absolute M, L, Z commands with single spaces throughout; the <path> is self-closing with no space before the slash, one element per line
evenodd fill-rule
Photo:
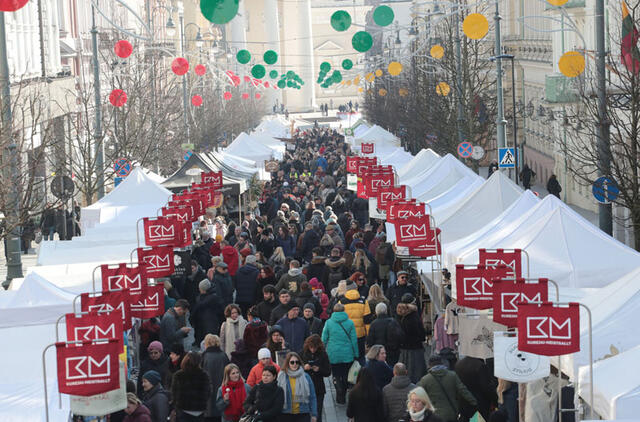
<path fill-rule="evenodd" d="M 280 420 L 286 422 L 316 422 L 317 398 L 313 381 L 302 367 L 296 352 L 287 353 L 278 374 L 278 386 L 284 391 L 284 406 Z"/>

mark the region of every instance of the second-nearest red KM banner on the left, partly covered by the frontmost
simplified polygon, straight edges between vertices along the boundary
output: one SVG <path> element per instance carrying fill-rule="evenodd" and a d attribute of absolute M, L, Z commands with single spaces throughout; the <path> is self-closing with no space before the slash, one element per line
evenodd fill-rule
<path fill-rule="evenodd" d="M 88 314 L 66 314 L 67 341 L 90 341 L 115 338 L 120 346 L 119 353 L 123 351 L 124 340 L 122 329 L 122 317 L 118 312 L 89 312 Z"/>

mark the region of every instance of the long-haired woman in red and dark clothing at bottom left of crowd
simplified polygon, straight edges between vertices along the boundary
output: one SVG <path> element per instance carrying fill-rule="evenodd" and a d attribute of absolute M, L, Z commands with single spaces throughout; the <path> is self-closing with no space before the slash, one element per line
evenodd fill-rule
<path fill-rule="evenodd" d="M 222 385 L 216 393 L 216 407 L 222 413 L 223 422 L 238 422 L 244 413 L 242 405 L 250 389 L 244 382 L 238 365 L 230 363 L 224 367 Z"/>

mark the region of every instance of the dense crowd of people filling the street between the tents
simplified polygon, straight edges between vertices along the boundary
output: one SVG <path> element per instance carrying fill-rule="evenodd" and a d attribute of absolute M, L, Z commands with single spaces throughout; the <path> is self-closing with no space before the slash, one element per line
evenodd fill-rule
<path fill-rule="evenodd" d="M 191 274 L 165 280 L 166 313 L 139 327 L 112 421 L 320 422 L 327 377 L 354 422 L 517 420 L 512 385 L 485 367 L 466 385 L 471 358 L 425 353 L 419 280 L 347 190 L 349 154 L 335 131 L 300 134 L 254 212 L 194 230 Z"/>

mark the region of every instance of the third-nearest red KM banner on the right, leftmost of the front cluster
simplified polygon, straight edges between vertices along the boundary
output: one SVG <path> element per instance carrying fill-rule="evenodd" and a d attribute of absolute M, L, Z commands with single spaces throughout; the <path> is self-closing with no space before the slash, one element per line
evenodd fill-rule
<path fill-rule="evenodd" d="M 493 279 L 504 266 L 456 265 L 456 295 L 458 305 L 473 309 L 493 307 Z"/>

